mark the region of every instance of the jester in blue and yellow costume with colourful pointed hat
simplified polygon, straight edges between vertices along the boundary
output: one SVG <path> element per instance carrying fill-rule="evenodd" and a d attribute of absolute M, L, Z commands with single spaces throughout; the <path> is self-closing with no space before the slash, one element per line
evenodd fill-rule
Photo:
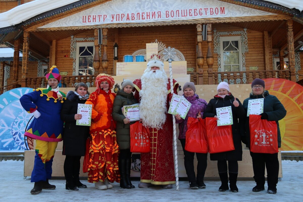
<path fill-rule="evenodd" d="M 47 88 L 36 88 L 20 98 L 22 107 L 34 115 L 24 136 L 36 140 L 36 155 L 31 182 L 35 182 L 31 194 L 38 194 L 42 189 L 55 189 L 48 183 L 52 177 L 52 162 L 58 142 L 62 141 L 63 121 L 60 118 L 65 93 L 59 91 L 61 80 L 56 66 L 50 68 L 45 76 Z"/>

